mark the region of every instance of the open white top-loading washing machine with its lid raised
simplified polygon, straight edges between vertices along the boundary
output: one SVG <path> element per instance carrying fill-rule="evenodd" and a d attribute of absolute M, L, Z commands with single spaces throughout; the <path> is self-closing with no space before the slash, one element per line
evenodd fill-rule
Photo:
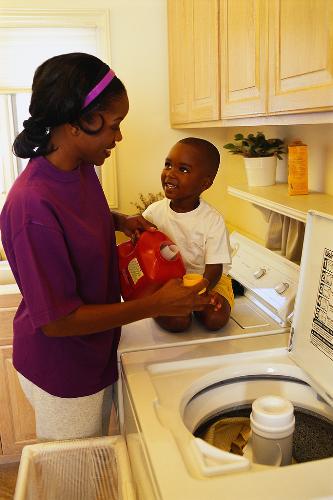
<path fill-rule="evenodd" d="M 127 352 L 121 366 L 140 499 L 332 499 L 333 218 L 308 215 L 290 335 Z M 198 437 L 215 417 L 270 394 L 308 418 L 301 432 L 296 419 L 298 463 L 254 464 Z"/>

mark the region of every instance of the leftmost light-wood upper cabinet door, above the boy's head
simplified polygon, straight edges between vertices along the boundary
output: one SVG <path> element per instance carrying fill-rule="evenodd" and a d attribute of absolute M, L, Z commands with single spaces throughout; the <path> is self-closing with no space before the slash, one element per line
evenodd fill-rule
<path fill-rule="evenodd" d="M 172 125 L 220 117 L 218 0 L 169 0 Z"/>

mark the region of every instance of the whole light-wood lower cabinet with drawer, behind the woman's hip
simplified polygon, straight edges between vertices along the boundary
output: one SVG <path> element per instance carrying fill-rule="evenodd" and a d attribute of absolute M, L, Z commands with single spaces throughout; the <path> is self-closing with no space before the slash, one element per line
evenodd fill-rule
<path fill-rule="evenodd" d="M 0 307 L 0 459 L 19 455 L 36 442 L 34 411 L 27 401 L 12 363 L 13 317 L 20 295 L 1 294 Z M 8 306 L 8 307 L 6 307 Z"/>

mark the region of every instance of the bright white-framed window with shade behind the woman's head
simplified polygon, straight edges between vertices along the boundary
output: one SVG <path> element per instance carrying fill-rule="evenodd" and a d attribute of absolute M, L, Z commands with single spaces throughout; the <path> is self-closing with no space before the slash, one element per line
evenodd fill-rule
<path fill-rule="evenodd" d="M 35 69 L 49 57 L 65 52 L 88 52 L 109 61 L 109 39 L 105 10 L 0 9 L 0 207 L 27 163 L 15 157 L 12 143 L 29 117 Z M 108 201 L 116 207 L 115 158 L 106 163 L 107 181 L 111 175 L 113 182 Z"/>

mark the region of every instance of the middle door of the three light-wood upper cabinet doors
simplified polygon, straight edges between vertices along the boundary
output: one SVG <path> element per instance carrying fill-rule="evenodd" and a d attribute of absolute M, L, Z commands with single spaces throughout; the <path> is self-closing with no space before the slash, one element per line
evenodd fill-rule
<path fill-rule="evenodd" d="M 222 118 L 266 112 L 267 30 L 265 0 L 222 0 Z"/>

